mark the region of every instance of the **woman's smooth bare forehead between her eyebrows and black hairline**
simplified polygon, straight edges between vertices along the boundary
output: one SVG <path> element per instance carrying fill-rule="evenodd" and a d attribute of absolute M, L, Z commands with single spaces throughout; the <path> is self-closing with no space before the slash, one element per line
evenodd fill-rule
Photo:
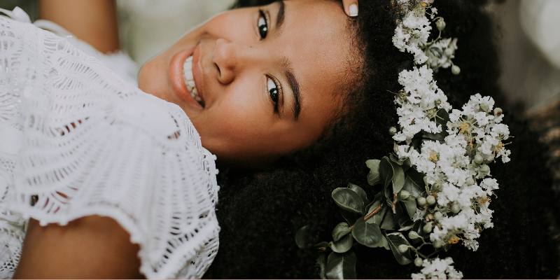
<path fill-rule="evenodd" d="M 348 17 L 334 1 L 285 1 L 282 30 L 276 48 L 290 60 L 305 106 L 332 104 L 341 85 L 351 79 L 352 43 Z M 274 4 L 278 5 L 278 4 Z M 275 13 L 276 10 L 272 10 Z M 307 102 L 306 102 L 307 101 Z M 324 104 L 323 104 L 324 103 Z M 319 108 L 316 108 L 319 109 Z M 309 112 L 307 112 L 309 113 Z"/>

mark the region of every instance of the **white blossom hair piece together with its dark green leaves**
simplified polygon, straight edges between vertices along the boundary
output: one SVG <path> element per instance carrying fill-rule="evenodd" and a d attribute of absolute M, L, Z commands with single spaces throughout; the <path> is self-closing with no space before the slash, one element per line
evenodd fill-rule
<path fill-rule="evenodd" d="M 498 158 L 510 161 L 503 112 L 493 108 L 491 97 L 480 94 L 472 95 L 461 110 L 452 108 L 433 73 L 451 66 L 452 73 L 460 74 L 452 61 L 457 39 L 442 38 L 446 23 L 437 16 L 433 0 L 397 3 L 405 12 L 393 44 L 414 56 L 414 66 L 398 76 L 398 128 L 389 130 L 393 153 L 365 162 L 370 169 L 367 183 L 375 195 L 368 199 L 365 190 L 352 183 L 332 191 L 346 221 L 332 230 L 330 242 L 310 243 L 307 226 L 296 233 L 300 248 L 322 252 L 322 278 L 356 278 L 351 250 L 356 241 L 391 250 L 400 265 L 421 267 L 413 279 L 461 279 L 453 260 L 439 258 L 439 253 L 459 243 L 476 251 L 480 232 L 493 227 L 489 204 L 498 182 L 491 178 L 488 164 Z M 432 24 L 438 36 L 428 41 Z"/>

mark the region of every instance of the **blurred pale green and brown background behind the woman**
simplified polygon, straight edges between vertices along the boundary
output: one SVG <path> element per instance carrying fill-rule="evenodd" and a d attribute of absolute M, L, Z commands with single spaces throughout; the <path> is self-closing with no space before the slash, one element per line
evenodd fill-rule
<path fill-rule="evenodd" d="M 117 0 L 121 46 L 141 65 L 233 2 Z M 0 8 L 15 6 L 37 18 L 36 0 L 0 0 Z M 560 189 L 560 0 L 497 0 L 487 9 L 498 26 L 500 85 L 519 109 L 514 113 L 526 113 L 551 147 L 549 166 Z"/>

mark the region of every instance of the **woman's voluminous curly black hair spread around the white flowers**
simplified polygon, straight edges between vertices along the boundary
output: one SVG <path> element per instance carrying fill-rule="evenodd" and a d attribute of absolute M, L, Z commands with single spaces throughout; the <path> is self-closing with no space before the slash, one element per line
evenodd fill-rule
<path fill-rule="evenodd" d="M 239 0 L 237 6 L 272 1 Z M 218 255 L 207 278 L 317 278 L 317 253 L 297 248 L 295 232 L 310 225 L 318 241 L 330 240 L 330 230 L 342 221 L 330 198 L 334 188 L 349 182 L 368 189 L 365 160 L 391 152 L 388 127 L 396 124 L 393 95 L 402 69 L 412 56 L 399 52 L 391 41 L 398 10 L 391 0 L 359 1 L 360 14 L 349 18 L 356 33 L 362 69 L 360 81 L 349 92 L 344 116 L 337 119 L 318 145 L 290 155 L 267 170 L 222 169 L 217 205 L 221 225 Z M 480 92 L 506 106 L 505 120 L 514 136 L 508 146 L 512 161 L 491 166 L 500 190 L 490 208 L 494 228 L 484 230 L 480 248 L 454 246 L 447 253 L 465 278 L 556 278 L 559 275 L 557 240 L 550 227 L 559 216 L 558 195 L 549 188 L 544 168 L 547 151 L 528 130 L 519 113 L 508 109 L 497 85 L 498 55 L 491 18 L 484 0 L 437 1 L 447 20 L 444 36 L 458 38 L 454 63 L 435 73 L 437 85 L 449 102 L 460 107 Z M 517 114 L 519 115 L 519 114 Z M 384 248 L 356 248 L 361 278 L 409 278 L 414 265 L 401 266 Z"/>

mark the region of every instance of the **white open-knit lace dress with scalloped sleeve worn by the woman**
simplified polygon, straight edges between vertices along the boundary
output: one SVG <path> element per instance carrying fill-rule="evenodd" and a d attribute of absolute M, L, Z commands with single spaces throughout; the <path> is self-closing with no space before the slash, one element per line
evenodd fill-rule
<path fill-rule="evenodd" d="M 20 21 L 0 15 L 0 276 L 29 218 L 100 215 L 139 244 L 146 277 L 200 278 L 218 250 L 218 185 L 189 118 L 91 47 L 3 12 Z"/>

